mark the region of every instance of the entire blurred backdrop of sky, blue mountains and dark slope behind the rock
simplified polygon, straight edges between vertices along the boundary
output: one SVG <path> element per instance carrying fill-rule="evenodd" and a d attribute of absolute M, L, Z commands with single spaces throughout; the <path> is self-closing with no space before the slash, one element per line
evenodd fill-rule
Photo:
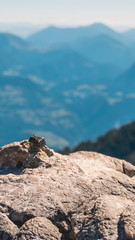
<path fill-rule="evenodd" d="M 134 0 L 0 0 L 0 146 L 39 135 L 135 164 L 134 11 Z"/>

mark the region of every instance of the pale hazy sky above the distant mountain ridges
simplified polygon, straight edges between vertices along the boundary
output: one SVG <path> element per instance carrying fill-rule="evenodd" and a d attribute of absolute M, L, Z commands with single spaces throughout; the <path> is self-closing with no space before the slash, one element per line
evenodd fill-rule
<path fill-rule="evenodd" d="M 0 0 L 1 22 L 135 27 L 135 0 Z"/>

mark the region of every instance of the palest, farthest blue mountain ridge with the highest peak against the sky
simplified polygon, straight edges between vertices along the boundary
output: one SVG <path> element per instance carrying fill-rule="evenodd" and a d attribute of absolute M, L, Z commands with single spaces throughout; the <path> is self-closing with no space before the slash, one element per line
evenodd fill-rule
<path fill-rule="evenodd" d="M 58 28 L 52 26 L 29 36 L 27 40 L 34 46 L 48 48 L 59 44 L 69 44 L 83 37 L 91 38 L 100 34 L 106 34 L 114 38 L 119 38 L 120 36 L 119 33 L 106 25 L 95 23 L 90 26 L 78 28 Z"/>

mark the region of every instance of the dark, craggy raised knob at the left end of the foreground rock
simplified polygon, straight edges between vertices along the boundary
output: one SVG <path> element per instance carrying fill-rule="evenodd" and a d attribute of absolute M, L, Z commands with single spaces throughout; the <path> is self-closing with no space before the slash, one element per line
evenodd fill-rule
<path fill-rule="evenodd" d="M 44 138 L 32 136 L 29 141 L 15 142 L 2 147 L 0 149 L 0 168 L 5 171 L 10 169 L 12 172 L 17 172 L 19 169 L 22 171 L 24 168 L 38 167 L 41 163 L 46 163 L 44 159 L 53 154 L 53 150 L 46 146 Z"/>

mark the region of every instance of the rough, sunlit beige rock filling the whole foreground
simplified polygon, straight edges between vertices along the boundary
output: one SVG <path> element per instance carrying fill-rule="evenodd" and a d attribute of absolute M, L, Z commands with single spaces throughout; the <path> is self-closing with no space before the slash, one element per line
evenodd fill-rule
<path fill-rule="evenodd" d="M 135 239 L 135 167 L 63 156 L 30 139 L 0 149 L 0 240 Z"/>

